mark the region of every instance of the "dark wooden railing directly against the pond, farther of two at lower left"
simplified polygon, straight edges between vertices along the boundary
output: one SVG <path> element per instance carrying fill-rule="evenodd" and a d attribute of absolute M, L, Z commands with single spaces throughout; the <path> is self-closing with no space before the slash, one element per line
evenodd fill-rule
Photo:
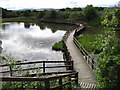
<path fill-rule="evenodd" d="M 68 68 L 68 70 L 73 70 L 73 61 L 32 61 L 32 62 L 21 62 L 21 63 L 15 63 L 15 64 L 4 64 L 4 65 L 0 65 L 0 67 L 9 67 L 9 70 L 4 70 L 4 71 L 0 71 L 0 73 L 6 73 L 6 72 L 10 72 L 10 76 L 12 76 L 12 73 L 15 71 L 18 71 L 17 69 L 12 69 L 13 66 L 17 66 L 17 65 L 28 65 L 28 64 L 40 64 L 40 67 L 29 67 L 29 68 L 24 68 L 22 69 L 24 70 L 33 70 L 33 69 L 42 69 L 43 73 L 46 73 L 46 68 Z M 57 66 L 47 66 L 48 63 L 52 63 L 52 64 L 58 64 L 58 63 L 64 63 L 65 65 L 57 65 Z"/>

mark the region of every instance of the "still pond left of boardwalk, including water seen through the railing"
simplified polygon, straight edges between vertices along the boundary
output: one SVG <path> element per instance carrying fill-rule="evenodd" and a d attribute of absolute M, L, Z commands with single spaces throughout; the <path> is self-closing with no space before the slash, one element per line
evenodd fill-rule
<path fill-rule="evenodd" d="M 2 23 L 0 45 L 2 56 L 11 55 L 17 61 L 62 60 L 63 53 L 52 50 L 52 46 L 62 40 L 66 30 L 73 26 L 50 23 L 5 22 Z M 3 63 L 3 61 L 2 61 Z M 46 66 L 64 65 L 64 63 L 47 64 Z M 41 64 L 21 65 L 22 68 L 38 67 Z M 9 70 L 8 67 L 2 71 Z M 46 69 L 46 72 L 63 71 L 66 68 Z M 30 71 L 32 72 L 32 71 Z M 39 71 L 43 72 L 43 71 Z M 14 72 L 21 75 L 24 72 Z M 9 76 L 10 73 L 3 73 Z"/>

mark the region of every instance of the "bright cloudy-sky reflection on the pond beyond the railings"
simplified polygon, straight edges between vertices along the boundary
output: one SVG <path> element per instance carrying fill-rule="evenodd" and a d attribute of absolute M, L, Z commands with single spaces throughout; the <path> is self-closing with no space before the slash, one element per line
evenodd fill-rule
<path fill-rule="evenodd" d="M 24 23 L 4 23 L 2 54 L 12 54 L 17 60 L 62 60 L 62 52 L 52 50 L 52 45 L 62 39 L 65 31 L 52 33 L 50 28 L 40 30 L 36 24 L 25 28 Z"/>

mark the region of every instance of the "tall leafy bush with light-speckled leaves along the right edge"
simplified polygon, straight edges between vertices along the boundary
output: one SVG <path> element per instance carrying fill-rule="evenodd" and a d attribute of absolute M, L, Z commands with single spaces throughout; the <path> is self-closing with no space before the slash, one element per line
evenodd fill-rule
<path fill-rule="evenodd" d="M 100 46 L 103 51 L 98 58 L 97 81 L 99 88 L 119 89 L 120 70 L 120 38 L 115 36 L 115 30 L 119 27 L 118 9 L 106 10 L 102 24 L 106 34 Z"/>

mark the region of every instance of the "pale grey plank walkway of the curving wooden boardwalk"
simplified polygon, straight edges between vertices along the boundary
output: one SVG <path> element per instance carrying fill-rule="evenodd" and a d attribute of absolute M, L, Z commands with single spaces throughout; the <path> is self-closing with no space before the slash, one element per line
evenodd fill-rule
<path fill-rule="evenodd" d="M 74 61 L 74 69 L 79 72 L 78 74 L 78 83 L 88 83 L 96 85 L 96 77 L 92 69 L 89 67 L 87 62 L 84 60 L 81 52 L 78 50 L 76 45 L 73 42 L 73 35 L 75 30 L 72 31 L 66 41 L 66 45 L 70 55 Z"/>

